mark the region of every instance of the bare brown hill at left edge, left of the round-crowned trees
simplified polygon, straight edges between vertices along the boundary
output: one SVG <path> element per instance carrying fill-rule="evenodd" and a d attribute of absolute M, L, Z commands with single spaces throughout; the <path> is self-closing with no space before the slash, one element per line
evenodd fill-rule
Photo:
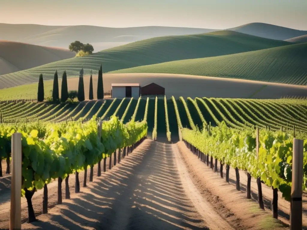
<path fill-rule="evenodd" d="M 0 40 L 0 75 L 72 58 L 74 52 L 20 42 Z"/>

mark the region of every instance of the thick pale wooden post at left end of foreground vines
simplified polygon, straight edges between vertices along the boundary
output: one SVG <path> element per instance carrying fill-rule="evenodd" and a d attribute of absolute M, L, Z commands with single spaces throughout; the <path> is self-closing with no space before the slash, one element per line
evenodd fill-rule
<path fill-rule="evenodd" d="M 10 230 L 21 229 L 21 133 L 12 135 Z"/>

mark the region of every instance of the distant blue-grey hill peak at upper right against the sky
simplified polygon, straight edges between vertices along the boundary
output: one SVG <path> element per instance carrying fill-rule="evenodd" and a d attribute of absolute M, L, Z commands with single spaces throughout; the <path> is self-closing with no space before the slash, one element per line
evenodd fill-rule
<path fill-rule="evenodd" d="M 259 22 L 240 25 L 228 30 L 276 40 L 286 40 L 307 34 L 307 31 L 305 30 L 290 29 L 278 25 Z"/>

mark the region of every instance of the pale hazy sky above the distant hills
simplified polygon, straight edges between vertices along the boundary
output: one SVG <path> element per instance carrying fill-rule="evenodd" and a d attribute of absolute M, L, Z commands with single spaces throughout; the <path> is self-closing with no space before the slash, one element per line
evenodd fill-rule
<path fill-rule="evenodd" d="M 265 22 L 307 30 L 306 10 L 307 0 L 0 0 L 0 23 L 226 29 Z"/>

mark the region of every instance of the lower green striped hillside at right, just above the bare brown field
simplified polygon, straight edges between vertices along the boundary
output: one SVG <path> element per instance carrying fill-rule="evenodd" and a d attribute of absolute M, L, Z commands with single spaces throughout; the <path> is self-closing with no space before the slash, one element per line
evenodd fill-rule
<path fill-rule="evenodd" d="M 218 57 L 140 66 L 114 73 L 171 73 L 306 85 L 306 62 L 307 43 L 302 43 Z"/>

